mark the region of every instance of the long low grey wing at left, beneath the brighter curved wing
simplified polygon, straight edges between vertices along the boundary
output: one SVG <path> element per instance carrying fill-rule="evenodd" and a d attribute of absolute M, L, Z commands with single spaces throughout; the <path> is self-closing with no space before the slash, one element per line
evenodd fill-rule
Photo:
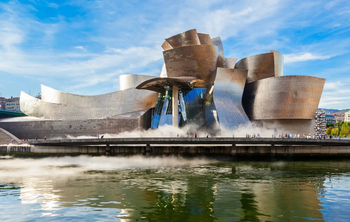
<path fill-rule="evenodd" d="M 138 110 L 128 114 L 102 119 L 46 120 L 22 117 L 0 119 L 0 127 L 23 139 L 59 139 L 68 136 L 93 136 L 118 134 L 134 129 L 151 127 L 152 109 Z M 27 116 L 26 116 L 27 117 Z M 71 137 L 70 137 L 71 138 Z"/>

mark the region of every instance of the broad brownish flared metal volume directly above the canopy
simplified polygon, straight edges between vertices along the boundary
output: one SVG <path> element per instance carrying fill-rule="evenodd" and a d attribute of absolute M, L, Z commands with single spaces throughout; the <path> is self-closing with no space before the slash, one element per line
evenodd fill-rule
<path fill-rule="evenodd" d="M 167 75 L 209 80 L 216 68 L 217 47 L 211 45 L 184 46 L 163 52 Z"/>

